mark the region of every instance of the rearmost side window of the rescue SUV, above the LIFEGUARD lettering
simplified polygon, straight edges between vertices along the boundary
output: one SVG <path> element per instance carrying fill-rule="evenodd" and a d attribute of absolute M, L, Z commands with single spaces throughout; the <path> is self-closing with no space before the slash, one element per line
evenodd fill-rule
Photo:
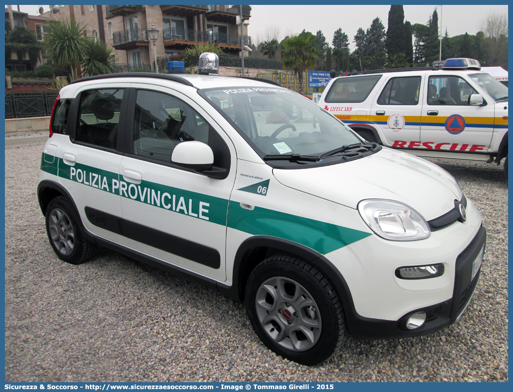
<path fill-rule="evenodd" d="M 325 102 L 358 103 L 367 99 L 382 75 L 340 77 L 329 89 Z"/>

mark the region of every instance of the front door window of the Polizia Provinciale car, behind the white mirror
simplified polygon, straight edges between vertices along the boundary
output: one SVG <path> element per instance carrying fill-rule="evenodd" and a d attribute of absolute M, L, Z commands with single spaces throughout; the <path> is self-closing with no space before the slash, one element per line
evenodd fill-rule
<path fill-rule="evenodd" d="M 138 90 L 135 104 L 133 153 L 171 163 L 174 147 L 199 141 L 214 151 L 214 166 L 227 167 L 219 136 L 203 117 L 185 102 L 156 91 Z"/>

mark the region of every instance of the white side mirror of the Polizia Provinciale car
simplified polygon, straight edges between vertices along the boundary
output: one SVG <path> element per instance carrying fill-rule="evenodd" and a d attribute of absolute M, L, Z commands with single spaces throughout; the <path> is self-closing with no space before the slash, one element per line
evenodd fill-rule
<path fill-rule="evenodd" d="M 214 164 L 214 153 L 205 143 L 182 142 L 174 148 L 171 163 L 186 169 L 210 170 Z"/>

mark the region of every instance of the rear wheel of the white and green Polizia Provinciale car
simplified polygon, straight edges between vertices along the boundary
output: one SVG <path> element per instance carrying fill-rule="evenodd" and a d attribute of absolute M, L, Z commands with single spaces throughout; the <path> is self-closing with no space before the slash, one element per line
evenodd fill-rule
<path fill-rule="evenodd" d="M 45 218 L 48 240 L 58 258 L 70 264 L 82 264 L 91 258 L 95 246 L 83 238 L 78 215 L 66 198 L 52 199 Z"/>

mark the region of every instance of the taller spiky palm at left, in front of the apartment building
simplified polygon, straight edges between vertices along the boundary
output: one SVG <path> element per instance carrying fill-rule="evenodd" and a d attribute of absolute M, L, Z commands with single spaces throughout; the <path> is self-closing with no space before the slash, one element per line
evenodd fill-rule
<path fill-rule="evenodd" d="M 82 24 L 74 19 L 62 22 L 50 22 L 50 32 L 44 42 L 48 57 L 55 67 L 66 70 L 71 68 L 73 79 L 82 77 L 80 65 L 84 59 L 88 39 L 84 37 Z"/>

